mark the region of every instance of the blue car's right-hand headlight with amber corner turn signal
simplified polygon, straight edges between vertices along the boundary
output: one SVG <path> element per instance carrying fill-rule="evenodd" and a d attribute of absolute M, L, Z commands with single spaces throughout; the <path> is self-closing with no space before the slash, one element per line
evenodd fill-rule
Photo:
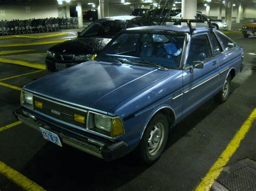
<path fill-rule="evenodd" d="M 119 117 L 109 117 L 89 112 L 87 129 L 100 134 L 117 137 L 124 134 L 124 126 Z"/>

